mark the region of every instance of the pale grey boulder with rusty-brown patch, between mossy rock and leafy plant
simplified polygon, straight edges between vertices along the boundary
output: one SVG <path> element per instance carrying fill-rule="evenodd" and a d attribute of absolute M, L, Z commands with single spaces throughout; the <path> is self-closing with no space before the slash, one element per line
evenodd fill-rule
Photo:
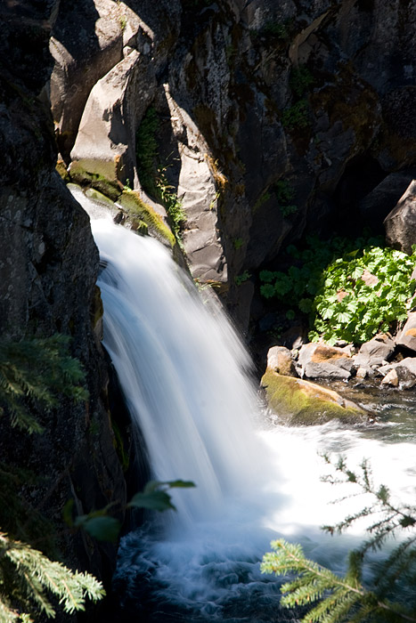
<path fill-rule="evenodd" d="M 308 378 L 344 378 L 351 376 L 354 360 L 347 348 L 322 343 L 305 344 L 299 351 L 300 376 Z"/>

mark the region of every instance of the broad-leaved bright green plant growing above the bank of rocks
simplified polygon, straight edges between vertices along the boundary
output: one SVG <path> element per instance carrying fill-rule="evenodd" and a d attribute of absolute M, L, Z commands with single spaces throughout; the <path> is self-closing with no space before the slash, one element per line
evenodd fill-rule
<path fill-rule="evenodd" d="M 376 246 L 378 239 L 308 243 L 303 251 L 287 248 L 293 263 L 288 271 L 261 271 L 259 277 L 265 298 L 308 314 L 311 340 L 362 344 L 406 318 L 416 285 L 414 255 Z"/>

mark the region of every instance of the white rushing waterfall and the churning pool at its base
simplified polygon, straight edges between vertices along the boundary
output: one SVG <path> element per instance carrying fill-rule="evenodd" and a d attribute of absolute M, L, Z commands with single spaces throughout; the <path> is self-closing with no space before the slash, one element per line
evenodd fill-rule
<path fill-rule="evenodd" d="M 167 251 L 103 220 L 93 231 L 105 266 L 104 344 L 143 433 L 151 476 L 196 484 L 175 491 L 175 513 L 151 517 L 123 539 L 120 620 L 295 620 L 279 609 L 274 578 L 260 574 L 262 554 L 283 535 L 337 570 L 360 539 L 362 526 L 339 539 L 319 529 L 351 512 L 352 502 L 330 504 L 342 491 L 320 482 L 318 452 L 347 453 L 352 466 L 368 457 L 379 481 L 414 495 L 411 394 L 381 403 L 372 426 L 272 424 L 230 323 Z"/>

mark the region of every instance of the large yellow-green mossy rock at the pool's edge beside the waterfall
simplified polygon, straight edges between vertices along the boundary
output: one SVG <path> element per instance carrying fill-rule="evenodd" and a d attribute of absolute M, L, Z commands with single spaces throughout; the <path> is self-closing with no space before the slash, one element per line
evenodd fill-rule
<path fill-rule="evenodd" d="M 331 419 L 356 424 L 367 420 L 366 412 L 355 402 L 301 378 L 281 376 L 267 369 L 261 384 L 265 387 L 269 408 L 287 424 L 317 425 Z"/>

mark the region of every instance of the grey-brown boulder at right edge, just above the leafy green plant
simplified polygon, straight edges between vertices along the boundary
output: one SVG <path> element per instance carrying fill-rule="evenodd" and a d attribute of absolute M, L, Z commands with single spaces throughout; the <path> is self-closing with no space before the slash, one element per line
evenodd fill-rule
<path fill-rule="evenodd" d="M 402 198 L 387 215 L 384 226 L 387 245 L 412 254 L 412 245 L 416 243 L 416 180 L 409 184 Z"/>

